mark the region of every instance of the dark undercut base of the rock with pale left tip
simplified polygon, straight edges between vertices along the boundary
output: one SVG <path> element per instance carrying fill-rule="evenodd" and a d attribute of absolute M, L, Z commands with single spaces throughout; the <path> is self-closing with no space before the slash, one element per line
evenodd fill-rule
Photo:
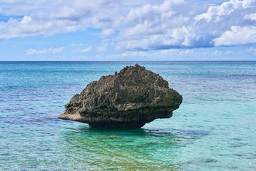
<path fill-rule="evenodd" d="M 172 116 L 172 108 L 158 107 L 126 111 L 97 110 L 71 115 L 61 113 L 58 118 L 88 123 L 88 125 L 95 128 L 141 128 L 157 118 L 170 118 Z"/>

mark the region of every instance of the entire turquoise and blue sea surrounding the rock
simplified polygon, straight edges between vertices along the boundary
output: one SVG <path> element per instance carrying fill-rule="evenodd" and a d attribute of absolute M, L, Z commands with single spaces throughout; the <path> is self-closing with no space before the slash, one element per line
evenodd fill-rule
<path fill-rule="evenodd" d="M 173 118 L 113 130 L 58 120 L 139 63 L 183 95 Z M 0 170 L 256 170 L 256 62 L 0 62 Z"/>

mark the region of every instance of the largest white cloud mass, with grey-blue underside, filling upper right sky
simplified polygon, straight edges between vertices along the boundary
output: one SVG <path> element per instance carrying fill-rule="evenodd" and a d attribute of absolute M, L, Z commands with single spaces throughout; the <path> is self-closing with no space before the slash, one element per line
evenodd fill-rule
<path fill-rule="evenodd" d="M 148 51 L 255 43 L 252 40 L 256 36 L 255 31 L 252 31 L 256 26 L 255 0 L 225 1 L 220 5 L 208 6 L 205 11 L 199 11 L 198 14 L 193 13 L 193 9 L 184 10 L 191 3 L 193 4 L 191 1 L 177 1 L 176 4 L 170 4 L 170 1 L 164 1 L 160 5 L 145 5 L 131 9 L 124 19 L 126 28 L 118 36 L 118 48 Z M 193 4 L 193 8 L 201 7 Z M 231 41 L 232 43 L 228 43 Z"/>

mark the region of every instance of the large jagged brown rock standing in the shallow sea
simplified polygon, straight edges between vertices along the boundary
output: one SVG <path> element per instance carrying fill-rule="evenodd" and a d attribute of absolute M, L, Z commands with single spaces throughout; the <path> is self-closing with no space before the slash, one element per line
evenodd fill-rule
<path fill-rule="evenodd" d="M 172 117 L 182 100 L 161 76 L 136 64 L 89 83 L 58 118 L 92 127 L 140 128 L 157 118 Z"/>

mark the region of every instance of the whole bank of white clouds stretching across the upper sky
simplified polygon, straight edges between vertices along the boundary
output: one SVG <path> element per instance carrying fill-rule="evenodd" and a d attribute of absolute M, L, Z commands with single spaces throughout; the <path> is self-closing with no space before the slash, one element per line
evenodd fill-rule
<path fill-rule="evenodd" d="M 9 17 L 0 21 L 3 39 L 101 28 L 103 39 L 114 36 L 128 51 L 256 43 L 255 0 L 1 0 L 0 15 Z"/>

